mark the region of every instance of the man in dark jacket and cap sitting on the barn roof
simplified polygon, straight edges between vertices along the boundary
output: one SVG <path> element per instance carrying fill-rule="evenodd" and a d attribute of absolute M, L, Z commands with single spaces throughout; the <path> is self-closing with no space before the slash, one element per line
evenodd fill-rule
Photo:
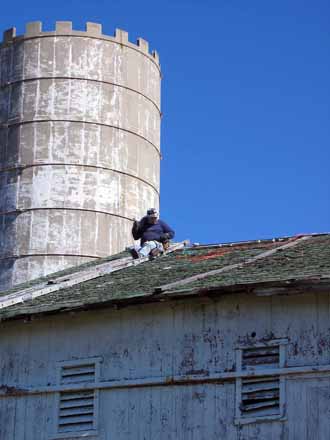
<path fill-rule="evenodd" d="M 134 259 L 155 257 L 164 252 L 169 241 L 174 237 L 174 231 L 163 220 L 159 219 L 156 209 L 148 209 L 147 215 L 140 221 L 134 220 L 132 235 L 134 240 L 141 239 L 141 246 L 130 249 Z"/>

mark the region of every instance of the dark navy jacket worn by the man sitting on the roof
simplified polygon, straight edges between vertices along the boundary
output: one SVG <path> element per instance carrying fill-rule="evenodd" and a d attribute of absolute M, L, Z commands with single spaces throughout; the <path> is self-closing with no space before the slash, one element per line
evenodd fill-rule
<path fill-rule="evenodd" d="M 139 222 L 135 221 L 132 228 L 134 240 L 141 238 L 141 246 L 146 241 L 156 240 L 160 243 L 168 241 L 174 237 L 174 231 L 162 220 L 157 220 L 155 224 L 148 222 L 148 217 L 143 217 Z"/>

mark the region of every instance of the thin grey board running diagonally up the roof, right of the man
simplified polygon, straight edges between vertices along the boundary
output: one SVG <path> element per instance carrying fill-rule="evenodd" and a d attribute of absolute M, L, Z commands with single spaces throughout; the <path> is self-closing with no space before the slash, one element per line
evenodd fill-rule
<path fill-rule="evenodd" d="M 289 243 L 286 243 L 286 244 L 284 244 L 282 246 L 278 246 L 278 247 L 275 247 L 273 249 L 270 249 L 270 250 L 267 250 L 265 252 L 262 252 L 261 254 L 258 254 L 258 255 L 254 256 L 254 257 L 251 257 L 251 258 L 248 258 L 247 260 L 245 260 L 245 261 L 243 261 L 241 263 L 230 264 L 229 266 L 222 267 L 221 269 L 214 269 L 214 270 L 211 270 L 211 271 L 208 271 L 208 272 L 204 272 L 204 273 L 201 273 L 201 274 L 198 274 L 198 275 L 193 275 L 193 276 L 185 278 L 183 280 L 174 281 L 172 283 L 164 284 L 162 286 L 156 287 L 154 289 L 154 292 L 155 293 L 163 293 L 166 290 L 171 290 L 171 288 L 173 288 L 173 287 L 184 286 L 185 284 L 189 284 L 189 283 L 191 283 L 193 281 L 198 281 L 200 279 L 207 278 L 209 276 L 218 275 L 218 274 L 220 274 L 222 272 L 228 272 L 228 271 L 230 271 L 232 269 L 237 269 L 237 268 L 246 266 L 246 265 L 254 263 L 255 261 L 260 260 L 262 258 L 267 258 L 270 255 L 273 255 L 273 254 L 275 254 L 276 252 L 278 252 L 280 250 L 284 250 L 284 249 L 288 249 L 288 248 L 294 247 L 297 244 L 301 243 L 302 241 L 309 240 L 312 237 L 313 237 L 313 235 L 303 235 L 303 236 L 293 237 L 293 239 L 289 240 Z"/>

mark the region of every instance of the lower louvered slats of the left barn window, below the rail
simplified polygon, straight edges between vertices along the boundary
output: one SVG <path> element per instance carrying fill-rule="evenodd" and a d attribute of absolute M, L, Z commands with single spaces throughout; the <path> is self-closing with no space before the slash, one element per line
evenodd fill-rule
<path fill-rule="evenodd" d="M 93 429 L 94 390 L 60 393 L 58 432 Z"/>

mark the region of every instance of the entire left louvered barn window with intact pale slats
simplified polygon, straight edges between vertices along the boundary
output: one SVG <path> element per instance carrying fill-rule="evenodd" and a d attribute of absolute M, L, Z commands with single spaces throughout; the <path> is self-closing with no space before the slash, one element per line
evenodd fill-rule
<path fill-rule="evenodd" d="M 99 358 L 61 362 L 55 438 L 96 435 Z"/>

